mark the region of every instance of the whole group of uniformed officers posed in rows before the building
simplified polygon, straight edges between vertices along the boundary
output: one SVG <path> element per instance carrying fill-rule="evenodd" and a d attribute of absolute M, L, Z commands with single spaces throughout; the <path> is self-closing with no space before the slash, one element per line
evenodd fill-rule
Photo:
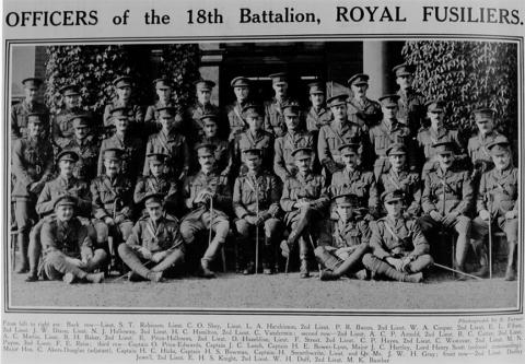
<path fill-rule="evenodd" d="M 504 279 L 516 280 L 517 155 L 498 110 L 472 105 L 478 132 L 465 138 L 448 129 L 446 101 L 412 89 L 410 64 L 392 72 L 395 94 L 370 99 L 374 80 L 358 73 L 349 93 L 328 96 L 326 80 L 313 81 L 308 105 L 285 72 L 269 75 L 264 103 L 250 79 L 234 78 L 228 106 L 198 80 L 184 108 L 174 80 L 152 80 L 158 102 L 144 107 L 132 74 L 120 75 L 102 125 L 80 84 L 65 84 L 50 114 L 44 80 L 25 79 L 10 110 L 14 272 L 161 282 L 220 279 L 230 266 L 261 280 L 299 271 L 420 283 L 432 269 L 479 280 L 492 277 L 503 233 Z"/>

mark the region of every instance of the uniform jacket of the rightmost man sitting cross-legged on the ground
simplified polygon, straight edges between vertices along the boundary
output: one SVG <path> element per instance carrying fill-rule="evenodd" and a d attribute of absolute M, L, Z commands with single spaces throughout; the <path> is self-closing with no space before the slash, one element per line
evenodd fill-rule
<path fill-rule="evenodd" d="M 372 224 L 370 246 L 380 259 L 418 257 L 429 254 L 430 246 L 416 220 L 385 216 Z"/>

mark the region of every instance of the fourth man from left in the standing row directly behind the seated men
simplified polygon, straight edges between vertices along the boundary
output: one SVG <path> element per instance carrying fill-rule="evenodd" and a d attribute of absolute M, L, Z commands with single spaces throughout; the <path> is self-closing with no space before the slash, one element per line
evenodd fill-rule
<path fill-rule="evenodd" d="M 177 122 L 176 109 L 173 107 L 161 107 L 158 109 L 159 121 L 162 125 L 161 131 L 150 136 L 145 146 L 145 153 L 167 154 L 165 161 L 167 175 L 177 183 L 183 183 L 189 171 L 189 146 L 186 137 L 180 133 L 180 124 Z M 150 174 L 150 165 L 144 163 L 142 174 Z"/>

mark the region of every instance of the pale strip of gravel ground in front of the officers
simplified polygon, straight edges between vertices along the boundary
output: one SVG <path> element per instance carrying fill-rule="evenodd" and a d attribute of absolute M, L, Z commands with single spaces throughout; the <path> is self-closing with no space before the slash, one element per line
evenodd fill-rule
<path fill-rule="evenodd" d="M 164 283 L 107 279 L 103 284 L 66 285 L 24 282 L 11 274 L 11 306 L 170 307 L 170 308 L 314 308 L 314 309 L 490 309 L 517 305 L 518 285 L 499 277 L 464 282 L 430 277 L 423 284 L 341 279 L 322 282 L 299 273 L 240 275 L 206 280 L 185 277 Z"/>

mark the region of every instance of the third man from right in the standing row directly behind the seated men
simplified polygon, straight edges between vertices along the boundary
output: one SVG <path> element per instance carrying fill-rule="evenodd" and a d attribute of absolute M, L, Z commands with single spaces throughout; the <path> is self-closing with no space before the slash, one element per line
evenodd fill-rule
<path fill-rule="evenodd" d="M 378 180 L 380 176 L 388 172 L 390 167 L 386 150 L 393 143 L 405 144 L 408 151 L 408 164 L 410 171 L 417 169 L 417 161 L 412 140 L 410 138 L 410 130 L 407 126 L 400 124 L 396 119 L 398 95 L 384 95 L 380 97 L 381 110 L 383 113 L 383 120 L 380 125 L 370 129 L 370 142 L 372 143 L 375 162 L 374 176 Z"/>

